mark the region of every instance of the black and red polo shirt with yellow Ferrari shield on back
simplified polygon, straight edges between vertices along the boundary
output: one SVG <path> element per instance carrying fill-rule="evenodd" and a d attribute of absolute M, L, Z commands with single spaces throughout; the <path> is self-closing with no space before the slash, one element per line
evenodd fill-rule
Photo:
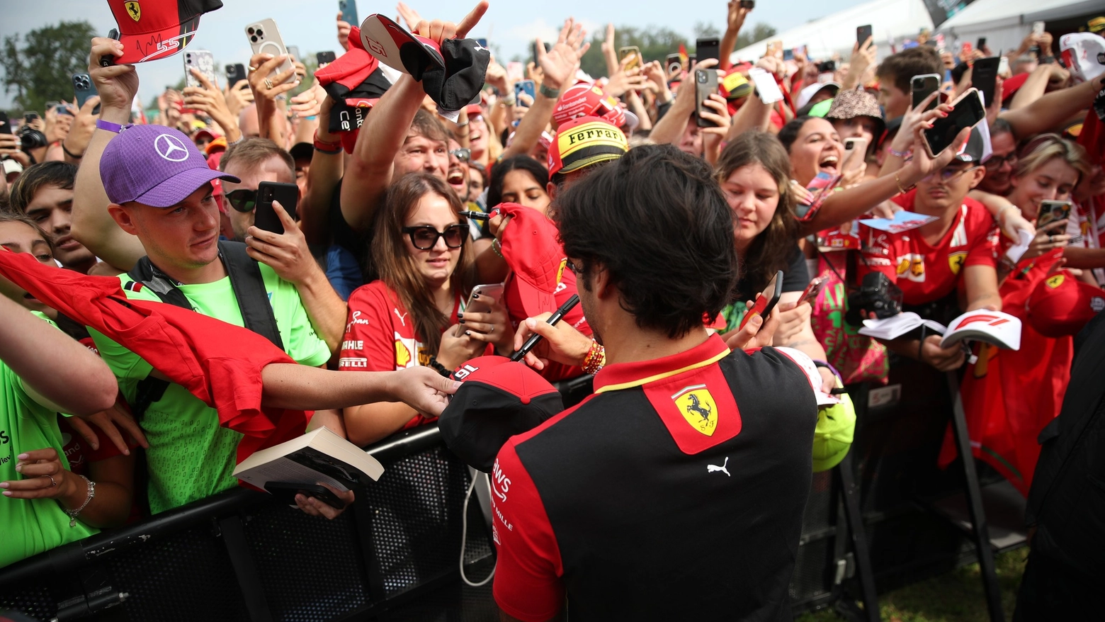
<path fill-rule="evenodd" d="M 498 605 L 525 621 L 789 620 L 818 411 L 772 348 L 717 335 L 611 365 L 492 472 Z"/>

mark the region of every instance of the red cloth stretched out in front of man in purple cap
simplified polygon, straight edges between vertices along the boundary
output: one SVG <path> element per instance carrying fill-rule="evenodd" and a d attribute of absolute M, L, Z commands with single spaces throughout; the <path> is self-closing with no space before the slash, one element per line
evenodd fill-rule
<path fill-rule="evenodd" d="M 215 409 L 223 426 L 245 435 L 238 462 L 306 430 L 306 412 L 261 405 L 261 370 L 295 361 L 252 330 L 165 303 L 128 301 L 118 278 L 49 267 L 27 253 L 0 250 L 0 274 Z"/>

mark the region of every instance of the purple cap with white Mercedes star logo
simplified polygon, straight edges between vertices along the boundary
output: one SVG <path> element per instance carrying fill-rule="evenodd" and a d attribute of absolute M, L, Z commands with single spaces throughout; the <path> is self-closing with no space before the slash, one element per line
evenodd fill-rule
<path fill-rule="evenodd" d="M 99 178 L 113 203 L 137 201 L 170 208 L 213 179 L 232 175 L 212 170 L 183 133 L 162 125 L 131 125 L 112 138 L 99 158 Z"/>

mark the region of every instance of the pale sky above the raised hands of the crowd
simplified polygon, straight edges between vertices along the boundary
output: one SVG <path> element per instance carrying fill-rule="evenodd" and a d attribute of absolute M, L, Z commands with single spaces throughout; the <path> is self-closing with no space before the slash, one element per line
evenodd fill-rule
<path fill-rule="evenodd" d="M 139 0 L 155 2 L 157 0 Z M 864 0 L 788 0 L 767 2 L 760 0 L 749 15 L 746 28 L 758 22 L 768 23 L 779 31 L 824 17 Z M 583 23 L 588 32 L 598 32 L 608 22 L 619 25 L 646 28 L 661 24 L 694 39 L 696 22 L 713 23 L 718 32 L 725 30 L 726 2 L 724 0 L 693 0 L 671 2 L 662 0 L 615 0 L 594 2 L 582 0 L 560 0 L 559 2 L 519 2 L 490 0 L 491 7 L 483 20 L 470 33 L 473 38 L 487 38 L 493 50 L 502 54 L 501 61 L 528 56 L 534 36 L 555 41 L 559 25 L 569 15 Z M 443 0 L 409 0 L 412 9 L 425 19 L 460 21 L 475 6 L 474 0 L 462 2 Z M 337 0 L 223 0 L 222 9 L 204 15 L 200 20 L 199 33 L 189 49 L 210 50 L 220 70 L 228 63 L 246 64 L 250 44 L 245 39 L 248 23 L 272 18 L 280 28 L 286 45 L 298 45 L 301 52 L 338 51 L 335 19 Z M 0 38 L 27 33 L 36 28 L 61 20 L 87 20 L 97 31 L 107 34 L 115 28 L 115 20 L 105 0 L 38 0 L 35 2 L 2 2 L 3 17 L 0 19 Z M 682 10 L 672 12 L 673 7 Z M 831 7 L 831 8 L 830 8 Z M 392 0 L 357 0 L 361 20 L 375 12 L 396 15 Z M 175 55 L 160 61 L 138 65 L 140 87 L 138 95 L 149 103 L 166 85 L 176 84 L 183 75 L 183 61 Z M 219 72 L 220 78 L 224 77 Z M 0 88 L 0 108 L 11 106 L 14 93 Z M 148 106 L 147 106 L 148 107 Z"/>

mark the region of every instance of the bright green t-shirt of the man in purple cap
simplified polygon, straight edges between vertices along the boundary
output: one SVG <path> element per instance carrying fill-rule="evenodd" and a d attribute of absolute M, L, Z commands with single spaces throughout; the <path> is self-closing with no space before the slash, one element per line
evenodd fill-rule
<path fill-rule="evenodd" d="M 261 264 L 269 302 L 276 317 L 284 350 L 303 365 L 317 367 L 330 358 L 329 347 L 315 334 L 299 293 L 287 281 Z M 119 275 L 124 284 L 131 278 Z M 126 291 L 127 298 L 159 301 L 148 287 Z M 180 291 L 197 313 L 215 317 L 235 326 L 245 326 L 238 308 L 230 277 L 214 283 L 181 285 Z M 90 330 L 99 356 L 119 380 L 127 401 L 134 401 L 139 380 L 149 376 L 152 367 L 138 355 Z M 149 468 L 149 508 L 157 514 L 214 493 L 231 488 L 234 456 L 242 435 L 219 425 L 219 414 L 180 384 L 169 384 L 160 400 L 146 410 L 143 431 L 149 441 L 146 464 Z"/>

